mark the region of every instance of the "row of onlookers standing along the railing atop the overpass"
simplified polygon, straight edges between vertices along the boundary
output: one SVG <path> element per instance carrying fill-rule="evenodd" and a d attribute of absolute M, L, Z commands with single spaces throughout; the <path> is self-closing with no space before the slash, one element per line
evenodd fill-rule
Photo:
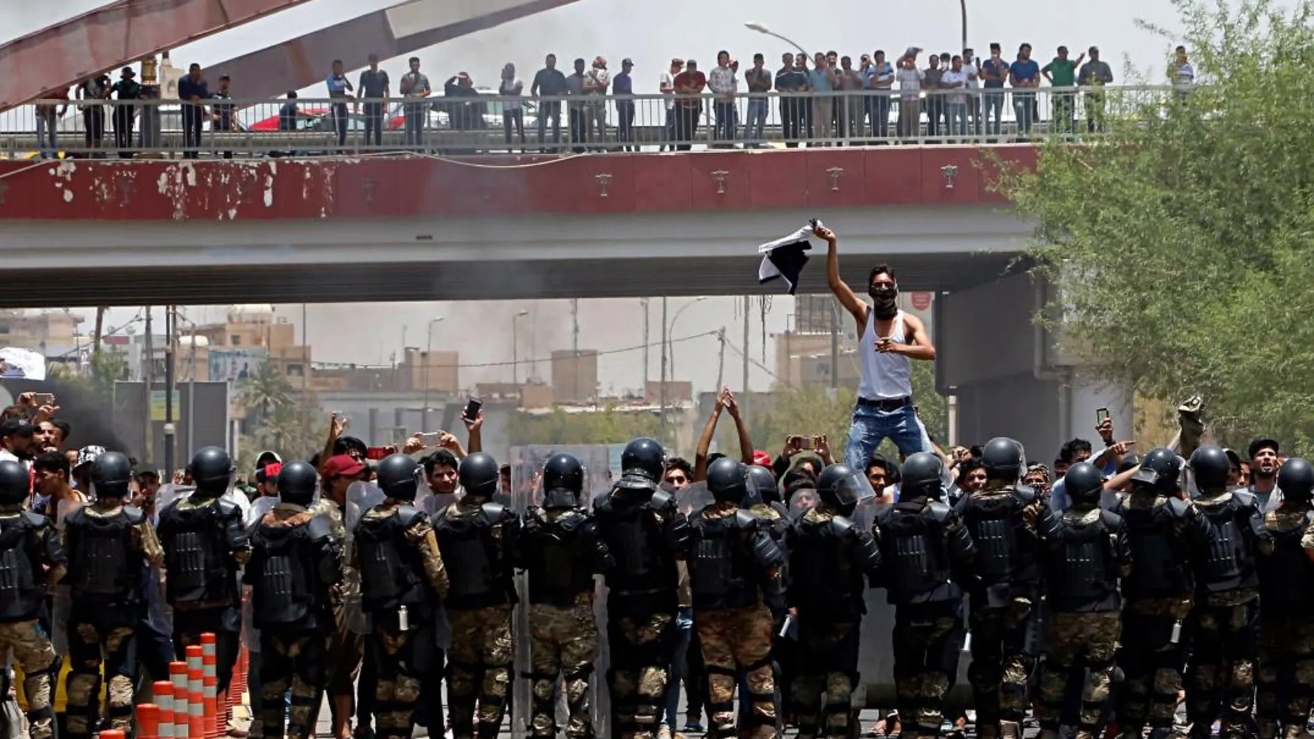
<path fill-rule="evenodd" d="M 317 144 L 314 150 L 327 154 L 390 150 L 394 144 L 411 151 L 497 151 L 491 137 L 460 144 L 459 137 L 453 137 L 453 133 L 497 127 L 503 133 L 501 150 L 522 152 L 639 151 L 644 143 L 687 150 L 695 142 L 712 147 L 761 147 L 777 138 L 791 147 L 892 143 L 924 137 L 1007 140 L 1026 139 L 1042 121 L 1042 106 L 1050 117 L 1049 133 L 1076 134 L 1079 116 L 1085 118 L 1087 133 L 1102 130 L 1104 88 L 1114 77 L 1096 46 L 1075 58 L 1067 46 L 1058 46 L 1043 64 L 1033 58 L 1030 43 L 1018 45 L 1016 53 L 991 43 L 988 55 L 980 58 L 975 50 L 963 49 L 958 54 L 929 54 L 922 63 L 921 54 L 917 47 L 897 55 L 875 50 L 862 53 L 854 62 L 837 51 L 817 51 L 811 56 L 784 53 L 779 68 L 769 66 L 762 53 L 753 54 L 752 63 L 742 67 L 724 50 L 706 67 L 695 59 L 673 58 L 656 75 L 660 95 L 650 98 L 636 96 L 636 87 L 644 85 L 636 85 L 635 63 L 628 58 L 615 74 L 602 55 L 591 62 L 577 58 L 568 72 L 549 54 L 528 84 L 509 62 L 495 87 L 476 85 L 469 74 L 459 72 L 445 79 L 438 95 L 439 89 L 420 70 L 419 58 L 409 59 L 409 68 L 397 77 L 394 88 L 377 55 L 371 55 L 369 67 L 355 84 L 343 63 L 334 60 L 325 79 L 326 100 L 304 104 L 292 91 L 279 104 L 276 116 L 261 119 L 246 119 L 251 109 L 242 112 L 234 102 L 242 97 L 242 80 L 222 75 L 212 87 L 201 66 L 192 64 L 179 83 L 181 148 L 191 158 L 212 148 L 206 126 L 212 137 L 244 130 L 331 133 L 332 143 Z M 1176 51 L 1169 77 L 1183 93 L 1194 81 L 1184 47 Z M 1049 83 L 1051 91 L 1041 91 L 1042 83 Z M 158 112 L 142 104 L 159 97 L 158 87 L 139 84 L 131 67 L 125 67 L 117 81 L 95 75 L 75 89 L 84 137 L 79 155 L 116 152 L 131 158 L 137 148 L 159 147 Z M 68 109 L 67 97 L 66 91 L 34 109 L 42 156 L 59 155 L 58 131 Z M 146 125 L 152 113 L 154 122 Z M 134 126 L 139 129 L 135 143 Z M 703 135 L 700 126 L 706 126 Z M 527 127 L 536 129 L 532 143 Z M 110 129 L 112 143 L 106 140 Z M 394 130 L 401 131 L 399 140 L 388 140 L 385 148 L 384 133 Z M 213 148 L 222 151 L 218 142 Z M 231 154 L 226 151 L 225 156 Z"/>

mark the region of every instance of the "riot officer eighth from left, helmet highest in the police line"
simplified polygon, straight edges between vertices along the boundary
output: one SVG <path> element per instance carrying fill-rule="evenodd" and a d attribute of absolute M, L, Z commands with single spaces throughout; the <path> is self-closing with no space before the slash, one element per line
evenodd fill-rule
<path fill-rule="evenodd" d="M 615 558 L 606 571 L 607 681 L 619 739 L 654 736 L 675 648 L 675 560 L 689 547 L 689 521 L 657 487 L 665 457 L 656 440 L 627 444 L 620 479 L 594 505 L 598 533 Z"/>

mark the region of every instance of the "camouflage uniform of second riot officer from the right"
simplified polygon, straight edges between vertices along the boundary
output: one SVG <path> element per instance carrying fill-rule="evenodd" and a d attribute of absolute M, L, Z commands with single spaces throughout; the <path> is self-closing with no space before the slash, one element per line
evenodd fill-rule
<path fill-rule="evenodd" d="M 1239 587 L 1209 587 L 1206 567 L 1210 539 L 1202 529 L 1197 542 L 1196 584 L 1200 595 L 1190 612 L 1192 654 L 1187 668 L 1187 719 L 1192 736 L 1208 736 L 1210 726 L 1223 717 L 1222 734 L 1239 736 L 1247 732 L 1255 694 L 1255 656 L 1259 650 L 1259 579 L 1255 557 L 1271 551 L 1272 539 L 1264 532 L 1263 517 L 1248 494 L 1223 492 L 1194 500 L 1201 511 L 1201 525 L 1208 526 L 1209 511 L 1229 505 L 1234 499 L 1248 511 L 1252 532 L 1239 532 L 1247 550 L 1234 555 L 1243 563 L 1236 578 Z M 1246 515 L 1246 513 L 1242 513 Z M 1248 534 L 1248 536 L 1247 536 Z"/>

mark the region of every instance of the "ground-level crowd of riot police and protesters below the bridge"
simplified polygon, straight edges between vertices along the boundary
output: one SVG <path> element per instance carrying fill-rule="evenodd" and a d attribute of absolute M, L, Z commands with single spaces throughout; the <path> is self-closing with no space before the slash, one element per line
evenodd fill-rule
<path fill-rule="evenodd" d="M 665 739 L 706 717 L 711 736 L 845 738 L 879 588 L 887 734 L 966 727 L 943 713 L 966 651 L 983 738 L 1029 719 L 1043 739 L 1303 736 L 1314 467 L 1272 438 L 1247 459 L 1202 444 L 1198 399 L 1143 455 L 1104 413 L 1102 449 L 1074 438 L 1053 469 L 1005 436 L 946 452 L 913 403 L 911 362 L 936 348 L 895 269 L 871 268 L 869 302 L 816 236 L 861 337 L 842 461 L 825 436 L 756 450 L 725 389 L 692 462 L 636 438 L 600 486 L 568 453 L 518 479 L 473 404 L 464 445 L 368 448 L 334 415 L 305 461 L 260 453 L 254 484 L 204 448 L 162 486 L 122 452 L 70 449 L 58 400 L 21 395 L 0 412 L 0 648 L 28 735 L 130 731 L 146 676 L 210 633 L 219 690 L 243 642 L 258 676 L 238 736 L 309 736 L 326 702 L 338 739 L 493 738 L 524 680 L 533 736 Z M 738 457 L 711 453 L 725 415 Z"/>

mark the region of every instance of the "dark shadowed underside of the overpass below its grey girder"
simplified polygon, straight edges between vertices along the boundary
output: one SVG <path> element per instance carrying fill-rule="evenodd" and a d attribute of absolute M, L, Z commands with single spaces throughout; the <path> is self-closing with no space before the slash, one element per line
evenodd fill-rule
<path fill-rule="evenodd" d="M 0 308 L 231 302 L 342 303 L 380 301 L 489 301 L 510 298 L 627 298 L 645 295 L 783 294 L 781 282 L 758 285 L 754 257 L 194 265 L 72 268 L 58 281 L 18 280 L 0 293 Z M 888 253 L 903 290 L 961 290 L 1010 269 L 1010 255 Z M 849 257 L 845 278 L 861 285 L 870 256 Z M 1018 269 L 1013 265 L 1012 269 Z M 800 293 L 825 291 L 820 260 L 804 272 Z"/>

